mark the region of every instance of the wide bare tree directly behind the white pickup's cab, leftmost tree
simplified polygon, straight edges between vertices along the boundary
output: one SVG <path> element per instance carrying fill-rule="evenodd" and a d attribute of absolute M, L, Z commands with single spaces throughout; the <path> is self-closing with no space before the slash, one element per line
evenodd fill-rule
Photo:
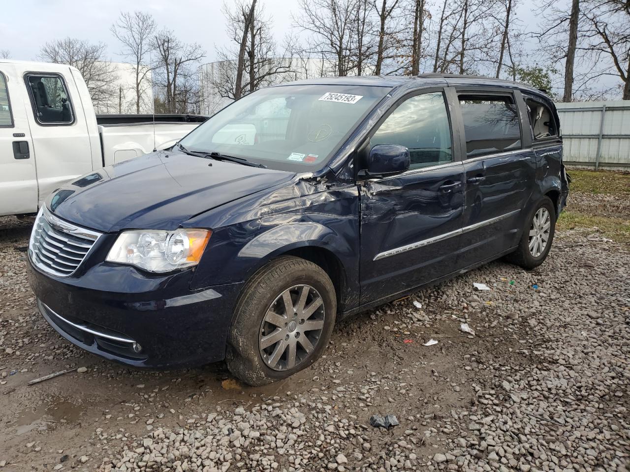
<path fill-rule="evenodd" d="M 112 63 L 106 60 L 105 48 L 103 43 L 63 38 L 45 43 L 39 59 L 79 69 L 96 108 L 108 108 L 116 100 L 117 75 Z"/>

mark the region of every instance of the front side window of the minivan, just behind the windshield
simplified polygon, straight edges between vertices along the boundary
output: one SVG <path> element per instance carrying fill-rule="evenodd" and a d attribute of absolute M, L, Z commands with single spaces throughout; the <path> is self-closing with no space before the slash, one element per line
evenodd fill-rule
<path fill-rule="evenodd" d="M 453 160 L 449 115 L 442 93 L 416 95 L 404 101 L 382 123 L 370 146 L 398 144 L 409 149 L 411 168 Z"/>

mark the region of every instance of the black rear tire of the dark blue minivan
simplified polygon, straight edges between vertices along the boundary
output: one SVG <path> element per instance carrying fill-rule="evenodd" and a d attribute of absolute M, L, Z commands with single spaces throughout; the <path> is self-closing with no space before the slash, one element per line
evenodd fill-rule
<path fill-rule="evenodd" d="M 545 213 L 546 211 L 546 213 Z M 537 220 L 541 220 L 541 217 L 544 215 L 549 215 L 549 231 L 545 235 L 544 232 L 538 232 L 539 238 L 541 242 L 544 240 L 544 237 L 547 237 L 546 244 L 544 248 L 541 250 L 540 245 L 536 245 L 534 243 L 534 249 L 530 249 L 530 232 L 537 231 L 534 228 L 534 218 Z M 543 227 L 546 227 L 546 223 L 542 224 Z M 527 215 L 527 219 L 525 220 L 525 224 L 523 227 L 523 235 L 518 242 L 518 248 L 512 254 L 508 254 L 506 259 L 508 262 L 512 262 L 512 264 L 516 264 L 517 266 L 521 266 L 524 269 L 531 270 L 542 264 L 542 262 L 547 258 L 547 254 L 549 254 L 549 249 L 551 249 L 551 244 L 553 243 L 554 233 L 556 232 L 556 209 L 554 208 L 553 202 L 547 196 L 543 197 L 541 201 L 534 205 L 532 211 L 530 211 L 529 215 Z"/>

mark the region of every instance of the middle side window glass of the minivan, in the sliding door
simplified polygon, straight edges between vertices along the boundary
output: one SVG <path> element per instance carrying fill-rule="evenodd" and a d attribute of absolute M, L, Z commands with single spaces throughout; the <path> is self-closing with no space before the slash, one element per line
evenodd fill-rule
<path fill-rule="evenodd" d="M 466 157 L 520 149 L 518 111 L 511 96 L 459 95 Z"/>

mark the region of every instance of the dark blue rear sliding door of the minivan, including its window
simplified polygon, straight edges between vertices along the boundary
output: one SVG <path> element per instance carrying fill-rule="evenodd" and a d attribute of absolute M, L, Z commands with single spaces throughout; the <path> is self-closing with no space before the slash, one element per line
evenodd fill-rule
<path fill-rule="evenodd" d="M 458 89 L 466 150 L 466 211 L 459 265 L 492 259 L 518 244 L 536 183 L 519 91 Z M 526 118 L 525 118 L 526 119 Z"/>

